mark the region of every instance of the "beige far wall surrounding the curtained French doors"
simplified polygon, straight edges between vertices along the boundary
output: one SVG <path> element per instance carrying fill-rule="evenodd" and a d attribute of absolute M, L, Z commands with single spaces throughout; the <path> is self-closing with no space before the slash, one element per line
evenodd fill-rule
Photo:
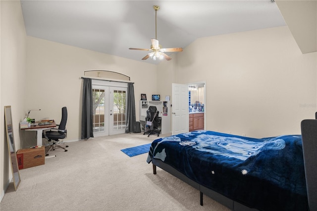
<path fill-rule="evenodd" d="M 81 137 L 81 76 L 85 70 L 111 70 L 131 77 L 135 100 L 141 93 L 157 93 L 157 66 L 104 53 L 75 48 L 34 37 L 27 37 L 28 60 L 25 109 L 32 111 L 35 119 L 61 118 L 61 107 L 67 106 L 67 140 Z M 137 118 L 138 118 L 138 108 Z"/>

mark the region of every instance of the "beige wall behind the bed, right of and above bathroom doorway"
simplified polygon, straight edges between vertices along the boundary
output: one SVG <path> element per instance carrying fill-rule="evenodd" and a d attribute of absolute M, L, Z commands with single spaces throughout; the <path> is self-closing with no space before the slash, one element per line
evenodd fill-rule
<path fill-rule="evenodd" d="M 287 27 L 201 38 L 177 58 L 173 83 L 206 80 L 208 130 L 300 134 L 315 117 L 317 53 L 302 54 Z"/>

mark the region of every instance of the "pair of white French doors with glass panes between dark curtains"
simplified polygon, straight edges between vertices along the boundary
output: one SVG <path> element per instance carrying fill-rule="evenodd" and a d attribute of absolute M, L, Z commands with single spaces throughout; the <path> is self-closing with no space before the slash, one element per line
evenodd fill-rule
<path fill-rule="evenodd" d="M 94 137 L 125 132 L 127 87 L 114 87 L 93 81 Z M 113 82 L 112 82 L 113 83 Z"/>

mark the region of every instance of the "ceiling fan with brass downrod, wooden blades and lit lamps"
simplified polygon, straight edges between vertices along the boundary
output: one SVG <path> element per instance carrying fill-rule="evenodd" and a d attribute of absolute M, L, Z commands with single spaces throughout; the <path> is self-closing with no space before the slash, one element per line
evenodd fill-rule
<path fill-rule="evenodd" d="M 130 50 L 141 50 L 141 51 L 151 51 L 146 56 L 142 58 L 142 60 L 146 60 L 149 57 L 153 60 L 156 60 L 157 58 L 166 60 L 171 60 L 172 58 L 166 55 L 164 52 L 181 52 L 183 51 L 182 48 L 167 48 L 163 49 L 161 45 L 159 45 L 159 41 L 157 40 L 157 11 L 159 10 L 158 5 L 153 6 L 155 10 L 155 39 L 151 39 L 152 45 L 151 49 L 136 49 L 136 48 L 129 48 Z"/>

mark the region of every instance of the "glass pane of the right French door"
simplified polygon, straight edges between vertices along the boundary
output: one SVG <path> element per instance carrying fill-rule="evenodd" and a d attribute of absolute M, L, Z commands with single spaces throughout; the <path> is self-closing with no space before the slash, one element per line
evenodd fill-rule
<path fill-rule="evenodd" d="M 125 129 L 126 92 L 113 91 L 113 130 Z"/>

